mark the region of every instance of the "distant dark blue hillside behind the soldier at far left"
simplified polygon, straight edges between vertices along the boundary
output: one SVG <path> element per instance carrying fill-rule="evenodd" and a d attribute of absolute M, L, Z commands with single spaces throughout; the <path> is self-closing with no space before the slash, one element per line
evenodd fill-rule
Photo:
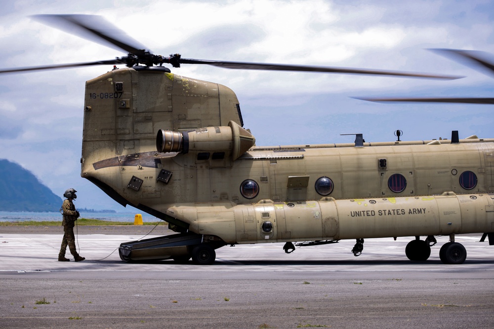
<path fill-rule="evenodd" d="M 0 211 L 56 212 L 62 201 L 30 171 L 0 159 Z"/>

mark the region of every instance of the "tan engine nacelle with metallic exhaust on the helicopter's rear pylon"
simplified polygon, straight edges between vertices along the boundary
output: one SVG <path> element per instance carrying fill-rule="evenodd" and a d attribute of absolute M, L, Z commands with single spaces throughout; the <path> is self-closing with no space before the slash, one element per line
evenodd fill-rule
<path fill-rule="evenodd" d="M 206 127 L 189 132 L 160 129 L 156 136 L 158 152 L 215 151 L 231 155 L 235 161 L 254 146 L 255 138 L 234 121 L 228 126 Z"/>

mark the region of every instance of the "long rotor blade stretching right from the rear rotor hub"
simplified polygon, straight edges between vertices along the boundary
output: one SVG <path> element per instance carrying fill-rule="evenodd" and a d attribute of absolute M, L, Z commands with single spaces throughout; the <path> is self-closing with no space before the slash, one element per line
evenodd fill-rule
<path fill-rule="evenodd" d="M 295 71 L 295 72 L 320 72 L 320 73 L 350 73 L 350 74 L 369 74 L 369 75 L 394 75 L 405 77 L 422 77 L 453 80 L 462 78 L 462 76 L 412 73 L 386 70 L 367 70 L 352 68 L 334 68 L 325 66 L 307 66 L 307 65 L 290 65 L 290 64 L 269 64 L 269 63 L 249 63 L 249 62 L 226 62 L 226 61 L 209 61 L 200 59 L 178 59 L 180 64 L 207 64 L 226 69 L 239 70 L 268 70 L 268 71 Z"/>

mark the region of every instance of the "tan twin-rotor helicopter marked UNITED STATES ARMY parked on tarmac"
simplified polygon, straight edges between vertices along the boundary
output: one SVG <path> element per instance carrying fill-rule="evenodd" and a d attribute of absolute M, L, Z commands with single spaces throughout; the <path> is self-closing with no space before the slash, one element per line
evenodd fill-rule
<path fill-rule="evenodd" d="M 452 76 L 164 57 L 97 16 L 39 18 L 128 52 L 107 61 L 0 71 L 126 65 L 86 81 L 81 176 L 177 233 L 122 243 L 124 261 L 211 264 L 226 245 L 284 242 L 290 253 L 294 243 L 343 239 L 356 239 L 358 256 L 364 239 L 398 236 L 412 236 L 406 256 L 423 261 L 434 236 L 449 235 L 439 256 L 460 264 L 466 251 L 455 234 L 487 233 L 494 244 L 494 139 L 460 140 L 453 133 L 443 141 L 366 143 L 356 134 L 351 144 L 255 146 L 231 89 L 162 65 Z"/>

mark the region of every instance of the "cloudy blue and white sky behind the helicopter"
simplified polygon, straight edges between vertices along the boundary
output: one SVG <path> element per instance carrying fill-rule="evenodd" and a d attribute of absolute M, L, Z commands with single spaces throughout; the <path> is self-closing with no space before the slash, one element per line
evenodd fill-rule
<path fill-rule="evenodd" d="M 154 54 L 465 76 L 445 81 L 182 65 L 175 74 L 232 88 L 257 146 L 492 138 L 492 105 L 380 104 L 352 97 L 493 97 L 494 76 L 428 49 L 494 56 L 494 2 L 2 1 L 0 68 L 110 60 L 122 50 L 43 25 L 31 15 L 101 15 Z M 493 60 L 494 62 L 494 60 Z M 123 67 L 123 66 L 121 66 Z M 111 67 L 0 75 L 0 158 L 16 162 L 77 207 L 123 208 L 80 176 L 84 84 Z"/>

